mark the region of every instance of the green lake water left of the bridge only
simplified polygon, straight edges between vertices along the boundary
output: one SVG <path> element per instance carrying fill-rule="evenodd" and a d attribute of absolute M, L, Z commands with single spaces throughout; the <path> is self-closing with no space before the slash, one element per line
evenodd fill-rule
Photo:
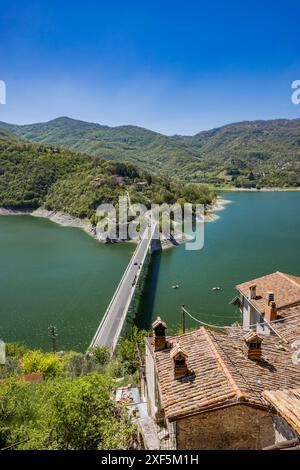
<path fill-rule="evenodd" d="M 133 249 L 46 219 L 0 217 L 0 337 L 49 349 L 53 324 L 59 349 L 83 350 Z"/>

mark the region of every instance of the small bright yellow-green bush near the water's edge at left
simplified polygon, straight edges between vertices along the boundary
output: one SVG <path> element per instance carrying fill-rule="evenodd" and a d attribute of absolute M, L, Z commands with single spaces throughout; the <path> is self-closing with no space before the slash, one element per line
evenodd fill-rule
<path fill-rule="evenodd" d="M 57 354 L 29 351 L 22 358 L 22 367 L 25 374 L 42 372 L 45 378 L 62 375 L 63 364 Z"/>

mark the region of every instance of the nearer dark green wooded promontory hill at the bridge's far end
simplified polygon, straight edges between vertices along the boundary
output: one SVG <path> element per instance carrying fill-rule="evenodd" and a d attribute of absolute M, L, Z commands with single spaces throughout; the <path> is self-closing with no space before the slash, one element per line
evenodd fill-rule
<path fill-rule="evenodd" d="M 143 191 L 137 183 L 145 182 Z M 203 185 L 182 185 L 152 175 L 131 162 L 89 157 L 65 148 L 28 142 L 0 129 L 0 207 L 44 206 L 77 217 L 91 217 L 101 203 L 118 202 L 129 191 L 132 202 L 209 204 Z"/>

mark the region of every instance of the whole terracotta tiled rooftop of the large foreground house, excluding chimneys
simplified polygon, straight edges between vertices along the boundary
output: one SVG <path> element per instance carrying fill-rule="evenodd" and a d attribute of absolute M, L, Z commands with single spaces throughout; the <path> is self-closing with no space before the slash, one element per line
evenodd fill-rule
<path fill-rule="evenodd" d="M 248 359 L 245 331 L 239 326 L 216 333 L 200 328 L 168 337 L 168 348 L 153 352 L 162 406 L 168 419 L 198 414 L 243 402 L 266 407 L 264 390 L 300 387 L 300 365 L 292 361 L 291 342 L 300 339 L 300 306 L 276 323 L 277 335 L 263 336 L 262 358 Z M 152 339 L 147 339 L 151 345 Z M 171 348 L 178 343 L 187 354 L 189 374 L 175 379 Z"/>

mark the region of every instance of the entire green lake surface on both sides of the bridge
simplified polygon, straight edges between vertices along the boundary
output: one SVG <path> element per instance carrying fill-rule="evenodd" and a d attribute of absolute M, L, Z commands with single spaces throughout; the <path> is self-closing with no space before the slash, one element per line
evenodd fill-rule
<path fill-rule="evenodd" d="M 153 255 L 142 326 L 159 314 L 175 329 L 181 304 L 204 322 L 228 324 L 239 319 L 229 305 L 235 284 L 276 270 L 300 275 L 300 192 L 225 198 L 232 203 L 205 225 L 201 251 L 182 245 Z M 59 349 L 83 350 L 133 249 L 128 243 L 101 245 L 79 229 L 44 219 L 0 217 L 0 337 L 49 349 L 47 328 L 54 324 Z"/>

